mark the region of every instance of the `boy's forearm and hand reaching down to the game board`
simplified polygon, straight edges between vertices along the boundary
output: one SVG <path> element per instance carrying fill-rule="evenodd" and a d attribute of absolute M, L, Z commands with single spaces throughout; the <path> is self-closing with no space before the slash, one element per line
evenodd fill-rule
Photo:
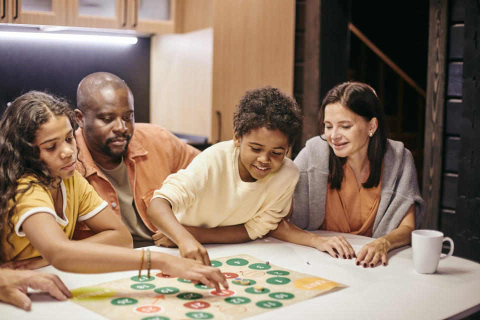
<path fill-rule="evenodd" d="M 206 249 L 178 222 L 170 202 L 163 198 L 153 198 L 146 210 L 148 218 L 159 231 L 168 236 L 180 250 L 182 257 L 199 260 L 210 265 Z"/>

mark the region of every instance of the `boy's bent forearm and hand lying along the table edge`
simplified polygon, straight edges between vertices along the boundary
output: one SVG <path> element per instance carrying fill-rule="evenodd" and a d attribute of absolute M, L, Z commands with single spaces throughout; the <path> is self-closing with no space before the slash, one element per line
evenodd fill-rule
<path fill-rule="evenodd" d="M 246 232 L 243 224 L 219 226 L 216 228 L 203 228 L 199 226 L 183 226 L 195 239 L 202 243 L 242 243 L 250 241 L 251 238 Z M 157 245 L 174 246 L 175 243 L 161 231 L 152 235 Z"/>

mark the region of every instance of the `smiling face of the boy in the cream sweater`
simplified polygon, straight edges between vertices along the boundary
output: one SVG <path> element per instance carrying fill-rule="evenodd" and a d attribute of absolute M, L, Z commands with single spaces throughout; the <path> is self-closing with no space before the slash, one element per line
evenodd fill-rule
<path fill-rule="evenodd" d="M 279 129 L 260 127 L 241 137 L 234 132 L 233 141 L 240 148 L 238 173 L 245 182 L 254 182 L 274 172 L 288 151 L 288 138 Z"/>

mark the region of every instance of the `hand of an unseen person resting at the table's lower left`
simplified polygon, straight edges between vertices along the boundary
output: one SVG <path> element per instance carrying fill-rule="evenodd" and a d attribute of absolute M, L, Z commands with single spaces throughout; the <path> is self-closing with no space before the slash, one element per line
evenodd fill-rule
<path fill-rule="evenodd" d="M 26 295 L 28 287 L 47 291 L 51 296 L 64 301 L 71 292 L 56 275 L 29 270 L 0 269 L 0 300 L 29 311 L 31 300 Z"/>

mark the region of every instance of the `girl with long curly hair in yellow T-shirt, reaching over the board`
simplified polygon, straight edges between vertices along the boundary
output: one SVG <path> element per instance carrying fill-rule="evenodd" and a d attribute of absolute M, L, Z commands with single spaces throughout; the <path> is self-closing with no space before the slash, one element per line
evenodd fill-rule
<path fill-rule="evenodd" d="M 74 118 L 66 102 L 31 91 L 16 98 L 0 121 L 0 227 L 2 262 L 42 255 L 70 272 L 108 272 L 147 267 L 130 247 L 126 227 L 75 171 Z M 77 221 L 95 235 L 71 241 Z M 219 289 L 218 269 L 151 252 L 151 268 Z M 140 262 L 139 262 L 140 261 Z M 176 267 L 174 267 L 176 266 Z"/>

